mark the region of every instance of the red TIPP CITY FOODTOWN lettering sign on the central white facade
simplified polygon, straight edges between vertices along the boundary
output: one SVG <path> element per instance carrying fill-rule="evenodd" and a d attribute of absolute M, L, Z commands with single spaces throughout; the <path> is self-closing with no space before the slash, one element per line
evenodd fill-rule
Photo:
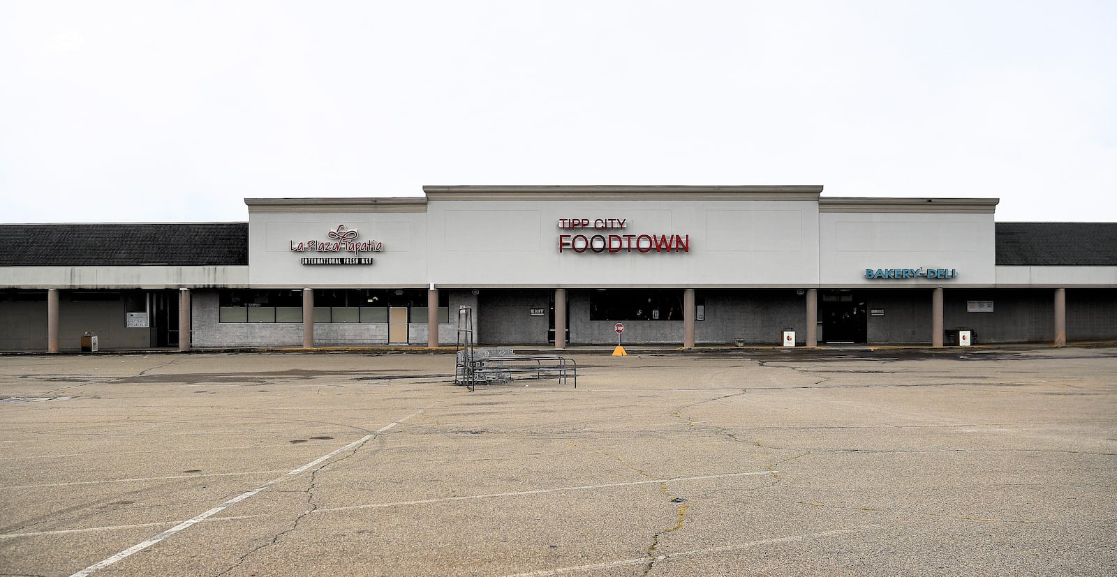
<path fill-rule="evenodd" d="M 558 252 L 690 252 L 689 234 L 620 234 L 627 228 L 628 219 L 558 219 L 558 229 L 579 231 L 558 234 Z"/>

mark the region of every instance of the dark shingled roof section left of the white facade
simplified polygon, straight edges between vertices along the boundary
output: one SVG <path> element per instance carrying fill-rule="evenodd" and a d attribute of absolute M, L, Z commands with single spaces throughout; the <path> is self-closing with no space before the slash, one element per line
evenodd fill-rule
<path fill-rule="evenodd" d="M 0 224 L 0 267 L 248 265 L 247 222 Z"/>

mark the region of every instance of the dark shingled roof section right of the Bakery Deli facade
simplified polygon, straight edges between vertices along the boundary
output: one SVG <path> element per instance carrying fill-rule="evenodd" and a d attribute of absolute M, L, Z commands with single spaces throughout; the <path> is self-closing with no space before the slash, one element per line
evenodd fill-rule
<path fill-rule="evenodd" d="M 1117 222 L 997 222 L 996 263 L 1117 266 Z"/>

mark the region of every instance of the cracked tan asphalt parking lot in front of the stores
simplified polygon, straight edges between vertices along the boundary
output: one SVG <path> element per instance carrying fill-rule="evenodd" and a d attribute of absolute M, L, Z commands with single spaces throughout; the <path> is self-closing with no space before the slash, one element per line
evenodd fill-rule
<path fill-rule="evenodd" d="M 0 356 L 0 574 L 1117 574 L 1117 350 Z"/>

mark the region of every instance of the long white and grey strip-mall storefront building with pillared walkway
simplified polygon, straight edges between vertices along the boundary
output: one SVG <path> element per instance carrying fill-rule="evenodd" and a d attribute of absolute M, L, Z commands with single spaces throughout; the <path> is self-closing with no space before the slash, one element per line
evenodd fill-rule
<path fill-rule="evenodd" d="M 1117 223 L 822 186 L 426 186 L 0 225 L 0 350 L 1117 339 Z M 556 327 L 561 327 L 556 330 Z M 557 336 L 557 338 L 556 338 Z"/>

